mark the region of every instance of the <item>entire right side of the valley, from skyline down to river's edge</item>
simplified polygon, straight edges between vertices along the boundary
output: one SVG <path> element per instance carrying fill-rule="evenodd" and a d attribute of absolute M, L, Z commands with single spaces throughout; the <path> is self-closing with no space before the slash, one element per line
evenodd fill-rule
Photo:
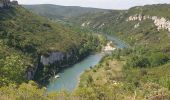
<path fill-rule="evenodd" d="M 169 9 L 169 4 L 146 5 L 75 18 L 75 25 L 116 35 L 130 45 L 86 71 L 80 91 L 93 91 L 94 98 L 102 98 L 101 93 L 108 100 L 169 100 Z"/>

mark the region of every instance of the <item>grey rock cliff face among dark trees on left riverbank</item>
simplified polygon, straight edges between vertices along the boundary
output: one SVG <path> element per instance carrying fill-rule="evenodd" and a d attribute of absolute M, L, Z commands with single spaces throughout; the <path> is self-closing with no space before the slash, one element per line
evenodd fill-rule
<path fill-rule="evenodd" d="M 49 65 L 49 64 L 53 64 L 56 61 L 62 61 L 64 59 L 64 54 L 61 52 L 52 52 L 49 54 L 48 57 L 45 57 L 44 55 L 41 55 L 41 59 L 40 62 L 43 65 Z M 67 55 L 67 58 L 69 57 L 69 55 Z"/>

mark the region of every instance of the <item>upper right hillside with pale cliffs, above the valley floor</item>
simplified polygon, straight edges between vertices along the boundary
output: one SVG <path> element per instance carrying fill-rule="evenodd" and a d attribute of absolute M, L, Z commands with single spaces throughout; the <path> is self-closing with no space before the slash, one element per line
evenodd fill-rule
<path fill-rule="evenodd" d="M 90 28 L 94 31 L 102 31 L 119 37 L 122 36 L 131 45 L 134 45 L 134 43 L 138 43 L 136 45 L 147 43 L 148 45 L 156 45 L 158 43 L 156 40 L 159 37 L 160 45 L 158 43 L 157 46 L 164 46 L 161 43 L 169 46 L 168 42 L 165 43 L 165 40 L 169 39 L 169 24 L 166 23 L 166 21 L 170 20 L 169 8 L 170 5 L 168 4 L 146 5 L 133 7 L 129 10 L 81 16 L 73 19 L 72 22 L 75 25 L 81 25 L 83 28 Z"/>

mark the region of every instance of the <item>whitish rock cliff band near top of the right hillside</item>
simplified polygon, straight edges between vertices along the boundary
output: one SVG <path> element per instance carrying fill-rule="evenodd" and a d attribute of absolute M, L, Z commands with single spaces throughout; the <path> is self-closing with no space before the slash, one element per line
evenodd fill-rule
<path fill-rule="evenodd" d="M 150 19 L 154 21 L 154 24 L 155 26 L 157 26 L 158 31 L 161 29 L 165 29 L 170 32 L 170 21 L 164 17 L 148 16 L 148 15 L 144 16 L 141 14 L 136 14 L 136 15 L 130 16 L 126 21 L 142 21 L 146 19 Z"/>

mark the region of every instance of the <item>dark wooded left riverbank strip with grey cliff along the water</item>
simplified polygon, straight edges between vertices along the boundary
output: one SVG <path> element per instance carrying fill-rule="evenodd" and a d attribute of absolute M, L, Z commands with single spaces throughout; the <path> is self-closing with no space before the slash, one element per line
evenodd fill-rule
<path fill-rule="evenodd" d="M 84 39 L 82 39 L 83 42 L 78 43 L 80 44 L 79 46 L 72 45 L 71 48 L 68 48 L 68 51 L 48 51 L 46 53 L 41 53 L 39 57 L 41 59 L 36 74 L 34 75 L 34 80 L 46 86 L 49 84 L 48 80 L 51 76 L 55 76 L 60 70 L 80 62 L 88 55 L 91 55 L 91 53 L 101 50 L 102 45 L 106 42 L 105 37 L 102 35 L 84 35 Z"/>

